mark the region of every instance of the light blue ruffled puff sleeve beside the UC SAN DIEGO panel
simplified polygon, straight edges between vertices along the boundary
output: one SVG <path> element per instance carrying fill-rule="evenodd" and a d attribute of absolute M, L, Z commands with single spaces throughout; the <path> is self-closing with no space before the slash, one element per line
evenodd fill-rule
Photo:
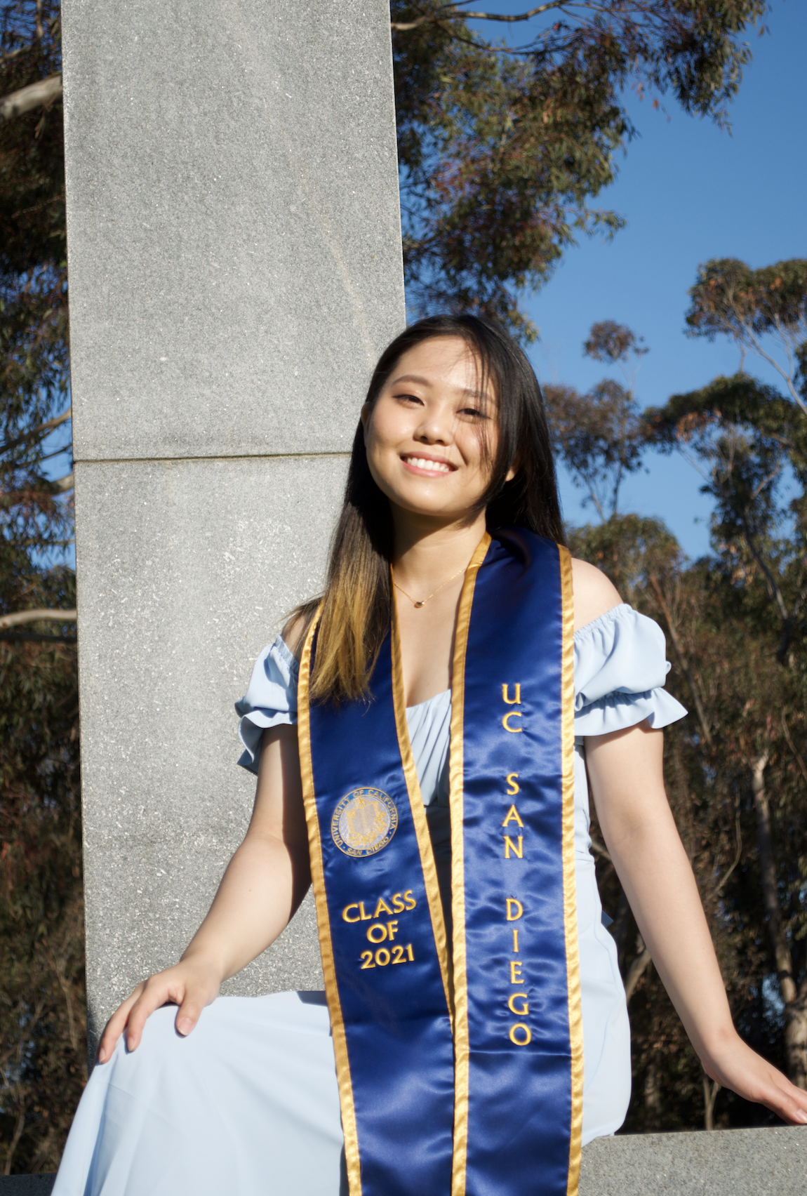
<path fill-rule="evenodd" d="M 683 719 L 686 710 L 664 688 L 670 667 L 664 631 L 626 603 L 581 627 L 574 637 L 575 737 Z"/>

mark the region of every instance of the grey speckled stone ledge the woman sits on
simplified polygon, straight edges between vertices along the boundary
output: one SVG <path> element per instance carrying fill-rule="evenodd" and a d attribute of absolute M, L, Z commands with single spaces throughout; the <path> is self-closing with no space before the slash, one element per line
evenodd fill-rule
<path fill-rule="evenodd" d="M 0 1196 L 49 1196 L 54 1178 L 0 1176 Z M 656 1194 L 807 1196 L 807 1129 L 626 1134 L 585 1148 L 580 1196 Z"/>

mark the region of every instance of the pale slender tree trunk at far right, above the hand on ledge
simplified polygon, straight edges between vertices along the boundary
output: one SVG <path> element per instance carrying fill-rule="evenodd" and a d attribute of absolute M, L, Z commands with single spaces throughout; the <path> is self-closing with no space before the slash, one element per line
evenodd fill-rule
<path fill-rule="evenodd" d="M 788 1060 L 788 1075 L 799 1088 L 807 1088 L 807 993 L 799 993 L 793 977 L 793 959 L 787 935 L 782 927 L 778 886 L 776 883 L 776 862 L 774 860 L 774 838 L 771 835 L 771 816 L 765 792 L 765 768 L 768 751 L 760 752 L 751 770 L 753 804 L 757 811 L 757 847 L 759 849 L 759 872 L 762 875 L 765 911 L 768 914 L 768 934 L 770 936 L 780 993 L 784 1001 L 784 1048 Z"/>

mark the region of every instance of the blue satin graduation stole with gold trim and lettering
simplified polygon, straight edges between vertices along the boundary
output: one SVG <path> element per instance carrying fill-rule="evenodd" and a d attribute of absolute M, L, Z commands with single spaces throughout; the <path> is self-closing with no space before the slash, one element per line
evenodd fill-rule
<path fill-rule="evenodd" d="M 372 700 L 299 744 L 350 1196 L 575 1196 L 582 1021 L 568 551 L 485 536 L 452 678 L 447 951 L 396 620 Z"/>

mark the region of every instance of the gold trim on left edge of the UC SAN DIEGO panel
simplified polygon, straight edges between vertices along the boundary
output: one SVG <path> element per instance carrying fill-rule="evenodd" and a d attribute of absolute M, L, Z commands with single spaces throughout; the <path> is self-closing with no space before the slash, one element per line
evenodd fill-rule
<path fill-rule="evenodd" d="M 453 989 L 454 989 L 454 1152 L 451 1196 L 465 1196 L 467 1160 L 467 1099 L 470 1042 L 467 1027 L 467 957 L 465 951 L 465 844 L 464 817 L 464 710 L 465 649 L 471 622 L 471 604 L 476 575 L 490 536 L 484 533 L 465 573 L 457 610 L 454 660 L 451 676 L 451 751 L 448 756 L 448 805 L 451 808 L 451 910 L 453 917 Z"/>

